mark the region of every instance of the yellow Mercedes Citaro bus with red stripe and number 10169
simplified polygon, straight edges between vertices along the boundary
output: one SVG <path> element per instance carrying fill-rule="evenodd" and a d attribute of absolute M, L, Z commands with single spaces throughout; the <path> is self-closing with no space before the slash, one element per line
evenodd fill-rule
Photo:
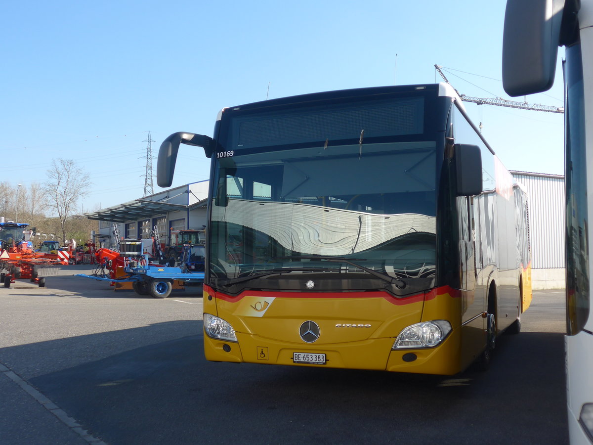
<path fill-rule="evenodd" d="M 447 84 L 229 107 L 213 138 L 211 361 L 455 374 L 531 301 L 528 204 Z"/>

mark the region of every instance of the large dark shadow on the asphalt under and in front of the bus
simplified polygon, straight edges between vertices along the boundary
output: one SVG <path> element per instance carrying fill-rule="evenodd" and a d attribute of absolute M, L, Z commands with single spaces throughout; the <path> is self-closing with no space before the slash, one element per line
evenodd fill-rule
<path fill-rule="evenodd" d="M 202 322 L 4 348 L 0 361 L 63 360 L 30 383 L 111 444 L 566 443 L 558 333 L 502 336 L 486 373 L 438 377 L 209 363 L 201 334 L 158 341 L 171 329 Z M 136 336 L 155 342 L 122 352 Z M 92 360 L 85 345 L 120 347 Z"/>

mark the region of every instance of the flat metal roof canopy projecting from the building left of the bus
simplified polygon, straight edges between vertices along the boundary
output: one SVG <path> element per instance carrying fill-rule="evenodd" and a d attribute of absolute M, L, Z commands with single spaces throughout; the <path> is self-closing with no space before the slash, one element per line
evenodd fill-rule
<path fill-rule="evenodd" d="M 139 221 L 151 218 L 154 215 L 166 214 L 174 210 L 191 210 L 206 205 L 207 199 L 196 202 L 192 205 L 171 204 L 170 202 L 149 201 L 148 199 L 135 199 L 113 207 L 87 213 L 89 220 L 127 222 Z"/>

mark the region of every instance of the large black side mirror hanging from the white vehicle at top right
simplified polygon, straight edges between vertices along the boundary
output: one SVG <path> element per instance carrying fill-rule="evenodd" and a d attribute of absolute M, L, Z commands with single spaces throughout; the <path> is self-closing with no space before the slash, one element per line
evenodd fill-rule
<path fill-rule="evenodd" d="M 564 6 L 565 0 L 506 2 L 502 86 L 509 96 L 541 93 L 554 83 Z"/>

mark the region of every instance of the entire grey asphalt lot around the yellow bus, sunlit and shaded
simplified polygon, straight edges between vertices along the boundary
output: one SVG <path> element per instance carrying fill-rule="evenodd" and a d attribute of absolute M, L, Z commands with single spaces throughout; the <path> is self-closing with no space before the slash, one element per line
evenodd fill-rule
<path fill-rule="evenodd" d="M 566 443 L 564 293 L 538 291 L 490 371 L 209 363 L 201 288 L 164 300 L 64 266 L 0 290 L 1 444 Z"/>

